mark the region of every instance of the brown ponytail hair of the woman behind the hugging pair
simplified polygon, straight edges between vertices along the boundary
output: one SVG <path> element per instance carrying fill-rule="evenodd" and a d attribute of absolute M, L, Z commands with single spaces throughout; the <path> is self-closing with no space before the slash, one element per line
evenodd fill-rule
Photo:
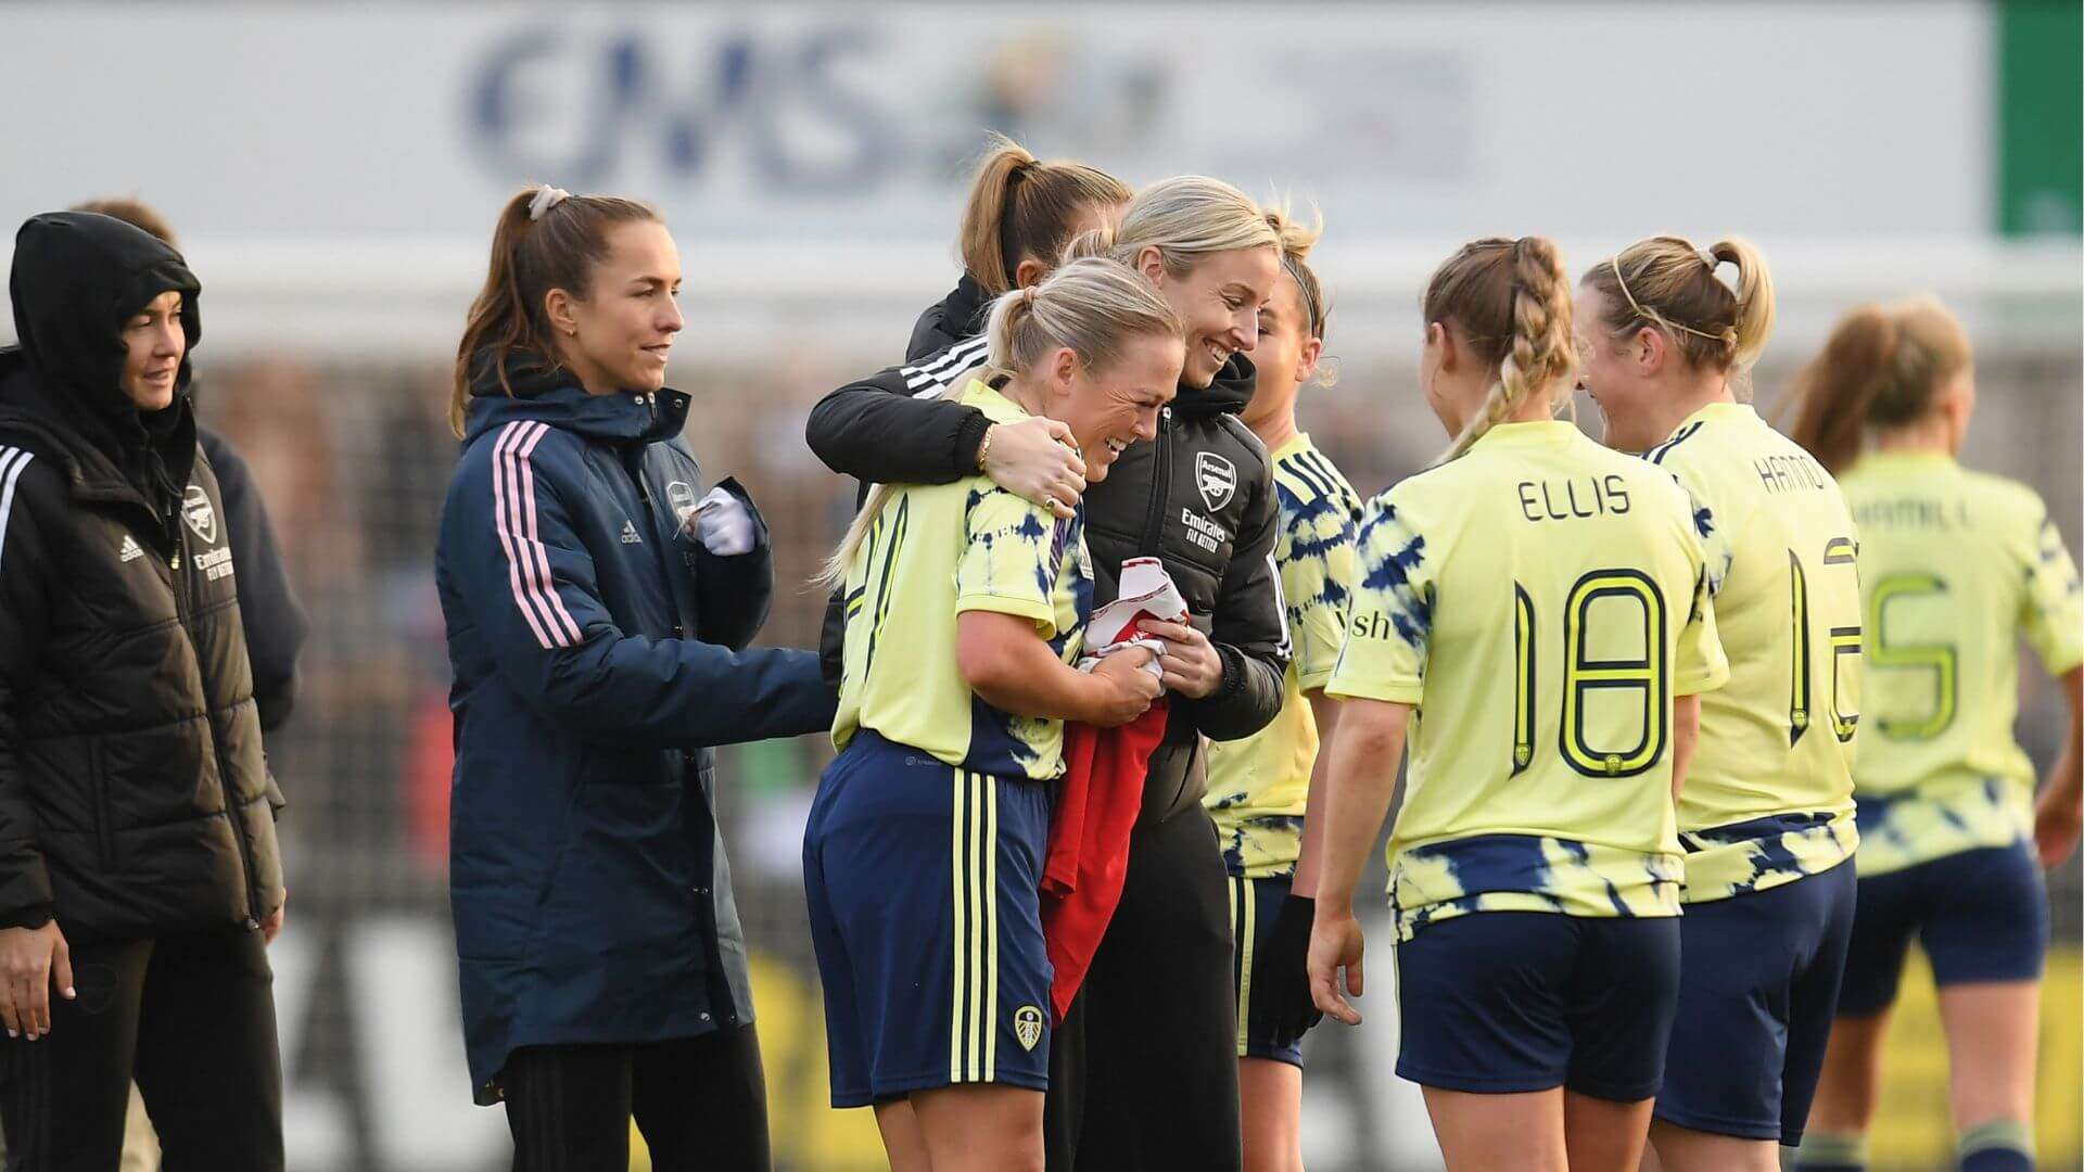
<path fill-rule="evenodd" d="M 963 269 L 984 292 L 1009 292 L 1023 257 L 1055 259 L 1082 211 L 1130 202 L 1130 194 L 1107 171 L 1084 163 L 1040 163 L 1021 144 L 994 133 L 963 204 L 957 240 Z"/>

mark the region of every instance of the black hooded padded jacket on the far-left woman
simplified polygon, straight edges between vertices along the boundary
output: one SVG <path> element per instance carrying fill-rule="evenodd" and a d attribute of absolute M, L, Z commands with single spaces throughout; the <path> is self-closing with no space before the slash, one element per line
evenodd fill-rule
<path fill-rule="evenodd" d="M 123 323 L 181 294 L 173 405 L 123 392 Z M 0 350 L 0 924 L 69 938 L 254 926 L 275 809 L 217 478 L 196 457 L 179 252 L 94 213 L 31 217 Z"/>

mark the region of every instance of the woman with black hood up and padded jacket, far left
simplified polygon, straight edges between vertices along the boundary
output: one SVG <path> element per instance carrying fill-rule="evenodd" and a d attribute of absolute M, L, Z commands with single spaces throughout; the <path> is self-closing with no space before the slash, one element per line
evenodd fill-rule
<path fill-rule="evenodd" d="M 94 213 L 31 217 L 0 350 L 0 1126 L 106 1170 L 135 1076 L 169 1168 L 279 1170 L 260 753 L 223 496 L 196 448 L 200 284 Z"/>

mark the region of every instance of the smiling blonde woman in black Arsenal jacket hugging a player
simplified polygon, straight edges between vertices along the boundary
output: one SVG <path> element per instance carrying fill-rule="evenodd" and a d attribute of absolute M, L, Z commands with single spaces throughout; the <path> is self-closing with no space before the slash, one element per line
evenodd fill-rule
<path fill-rule="evenodd" d="M 1121 453 L 1084 496 L 1094 605 L 1115 599 L 1125 559 L 1159 557 L 1192 626 L 1148 628 L 1171 646 L 1161 659 L 1171 717 L 1144 778 L 1121 905 L 1050 1049 L 1048 1166 L 1223 1172 L 1242 1159 L 1236 999 L 1223 859 L 1200 807 L 1200 738 L 1265 728 L 1288 667 L 1273 467 L 1238 419 L 1252 394 L 1244 352 L 1280 275 L 1277 238 L 1248 196 L 1188 175 L 1146 188 L 1119 229 L 1088 234 L 1073 252 L 1107 252 L 1144 273 L 1186 321 L 1188 344 L 1157 440 Z M 965 346 L 825 396 L 809 423 L 819 459 L 867 482 L 940 484 L 979 465 L 998 478 L 996 440 L 982 459 L 965 457 L 984 432 L 973 409 L 913 398 L 961 377 Z"/>

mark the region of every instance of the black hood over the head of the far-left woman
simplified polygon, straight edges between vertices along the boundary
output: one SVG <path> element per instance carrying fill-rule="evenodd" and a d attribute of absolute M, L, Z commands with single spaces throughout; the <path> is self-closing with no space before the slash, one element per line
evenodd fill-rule
<path fill-rule="evenodd" d="M 8 300 L 23 357 L 48 384 L 71 392 L 90 415 L 138 417 L 123 394 L 123 323 L 158 294 L 181 294 L 188 352 L 175 375 L 175 407 L 188 396 L 190 355 L 202 340 L 202 284 L 165 240 L 121 219 L 85 211 L 29 217 L 15 234 Z"/>

